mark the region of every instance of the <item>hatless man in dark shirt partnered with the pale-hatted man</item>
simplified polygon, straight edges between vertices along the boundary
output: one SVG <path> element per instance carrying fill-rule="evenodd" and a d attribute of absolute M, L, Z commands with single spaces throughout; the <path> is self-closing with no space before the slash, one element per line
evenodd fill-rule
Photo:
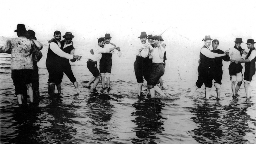
<path fill-rule="evenodd" d="M 224 53 L 223 51 L 221 51 L 220 49 L 218 49 L 220 42 L 217 39 L 214 39 L 212 41 L 212 51 L 214 53 L 219 53 L 222 54 Z M 222 60 L 224 61 L 229 61 L 229 56 L 225 55 L 222 57 L 217 57 L 215 59 L 213 59 L 213 80 L 214 82 L 214 86 L 216 88 L 216 92 L 217 92 L 217 99 L 220 99 L 220 86 L 221 86 L 221 80 L 222 80 Z"/>

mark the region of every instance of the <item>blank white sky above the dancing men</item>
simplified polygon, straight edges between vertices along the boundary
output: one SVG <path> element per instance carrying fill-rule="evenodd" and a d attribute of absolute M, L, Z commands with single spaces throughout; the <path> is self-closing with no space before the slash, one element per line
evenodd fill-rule
<path fill-rule="evenodd" d="M 51 39 L 72 32 L 74 41 L 92 43 L 110 33 L 115 41 L 138 41 L 142 31 L 167 43 L 202 44 L 205 35 L 223 43 L 256 39 L 256 1 L 237 0 L 1 0 L 0 36 L 17 37 L 17 24 Z"/>

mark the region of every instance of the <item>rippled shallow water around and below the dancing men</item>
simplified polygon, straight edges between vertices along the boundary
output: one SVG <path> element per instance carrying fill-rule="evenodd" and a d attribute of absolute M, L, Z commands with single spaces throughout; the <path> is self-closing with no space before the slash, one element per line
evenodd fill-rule
<path fill-rule="evenodd" d="M 243 85 L 233 99 L 228 63 L 223 62 L 221 100 L 216 100 L 214 87 L 209 100 L 203 99 L 204 87 L 188 97 L 197 78 L 197 61 L 175 61 L 175 56 L 168 57 L 163 76 L 164 91 L 172 99 L 149 99 L 146 82 L 142 96 L 136 96 L 135 59 L 129 49 L 121 58 L 113 55 L 110 89 L 101 84 L 96 91 L 85 88 L 92 75 L 86 68 L 88 51 L 78 45 L 76 53 L 83 59 L 71 64 L 81 93 L 75 94 L 64 75 L 62 94 L 49 96 L 48 47 L 43 44 L 44 56 L 38 62 L 40 99 L 35 105 L 18 105 L 10 55 L 0 54 L 1 143 L 255 143 L 255 87 L 250 101 L 245 101 Z"/>

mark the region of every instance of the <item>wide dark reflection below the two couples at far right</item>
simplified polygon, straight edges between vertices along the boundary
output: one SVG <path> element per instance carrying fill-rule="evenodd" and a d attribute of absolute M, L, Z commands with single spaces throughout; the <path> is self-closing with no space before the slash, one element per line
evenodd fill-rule
<path fill-rule="evenodd" d="M 238 104 L 233 100 L 228 106 L 222 106 L 219 101 L 198 102 L 192 108 L 192 117 L 198 128 L 190 131 L 192 137 L 199 143 L 244 143 L 245 132 L 252 132 L 247 121 L 251 120 L 246 110 L 251 105 Z"/>

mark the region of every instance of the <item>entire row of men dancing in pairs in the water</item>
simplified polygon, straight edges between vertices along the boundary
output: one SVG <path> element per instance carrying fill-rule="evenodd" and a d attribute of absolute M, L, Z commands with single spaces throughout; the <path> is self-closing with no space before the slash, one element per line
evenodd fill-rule
<path fill-rule="evenodd" d="M 43 45 L 36 41 L 35 32 L 32 30 L 27 31 L 23 24 L 18 24 L 15 32 L 17 32 L 18 38 L 8 40 L 7 44 L 1 47 L 0 52 L 12 54 L 12 79 L 18 102 L 22 104 L 23 100 L 26 100 L 25 96 L 27 92 L 30 102 L 34 101 L 34 97 L 39 97 L 39 78 L 36 63 L 40 58 L 37 59 L 34 55 L 43 48 Z M 54 93 L 55 85 L 58 93 L 61 92 L 61 82 L 64 73 L 74 84 L 77 93 L 80 92 L 69 63 L 69 60 L 75 62 L 81 59 L 81 56 L 74 55 L 75 49 L 72 42 L 74 37 L 71 32 L 66 32 L 63 36 L 64 40 L 61 41 L 60 31 L 55 31 L 53 38 L 49 41 L 50 44 L 46 58 L 46 68 L 49 73 L 49 94 Z M 92 88 L 95 89 L 101 78 L 102 87 L 105 88 L 105 77 L 107 78 L 107 86 L 108 88 L 110 87 L 112 54 L 116 51 L 119 57 L 122 55 L 120 47 L 110 43 L 111 38 L 110 34 L 99 38 L 98 45 L 90 51 L 91 56 L 87 61 L 87 68 L 93 77 L 85 87 L 91 87 L 93 83 Z M 140 38 L 141 44 L 136 48 L 136 60 L 134 62 L 134 72 L 138 83 L 137 94 L 138 96 L 141 95 L 141 88 L 145 79 L 148 87 L 147 94 L 150 93 L 151 98 L 160 97 L 168 99 L 168 96 L 161 90 L 163 86 L 161 76 L 164 75 L 166 60 L 166 45 L 162 44 L 164 39 L 162 36 L 147 35 L 146 32 L 141 32 L 138 38 Z M 203 41 L 204 46 L 200 50 L 198 80 L 195 88 L 191 90 L 190 95 L 205 84 L 205 98 L 209 99 L 212 80 L 215 80 L 214 86 L 216 87 L 217 98 L 219 99 L 223 74 L 222 60 L 225 60 L 230 61 L 228 69 L 234 98 L 238 96 L 237 92 L 243 80 L 243 67 L 241 63 L 245 63 L 244 87 L 246 97 L 249 99 L 251 96 L 250 82 L 252 81 L 252 76 L 255 74 L 256 50 L 254 48 L 254 40 L 247 40 L 246 44 L 250 50 L 249 52 L 241 48 L 240 45 L 243 43 L 242 38 L 236 38 L 234 48 L 226 52 L 218 49 L 219 41 L 217 39 L 212 41 L 210 36 L 205 36 Z M 211 42 L 212 51 L 209 49 Z M 100 71 L 97 68 L 97 62 L 100 62 Z M 236 81 L 237 85 L 235 85 Z M 158 83 L 160 87 L 157 86 Z M 160 95 L 155 95 L 155 91 Z"/>

